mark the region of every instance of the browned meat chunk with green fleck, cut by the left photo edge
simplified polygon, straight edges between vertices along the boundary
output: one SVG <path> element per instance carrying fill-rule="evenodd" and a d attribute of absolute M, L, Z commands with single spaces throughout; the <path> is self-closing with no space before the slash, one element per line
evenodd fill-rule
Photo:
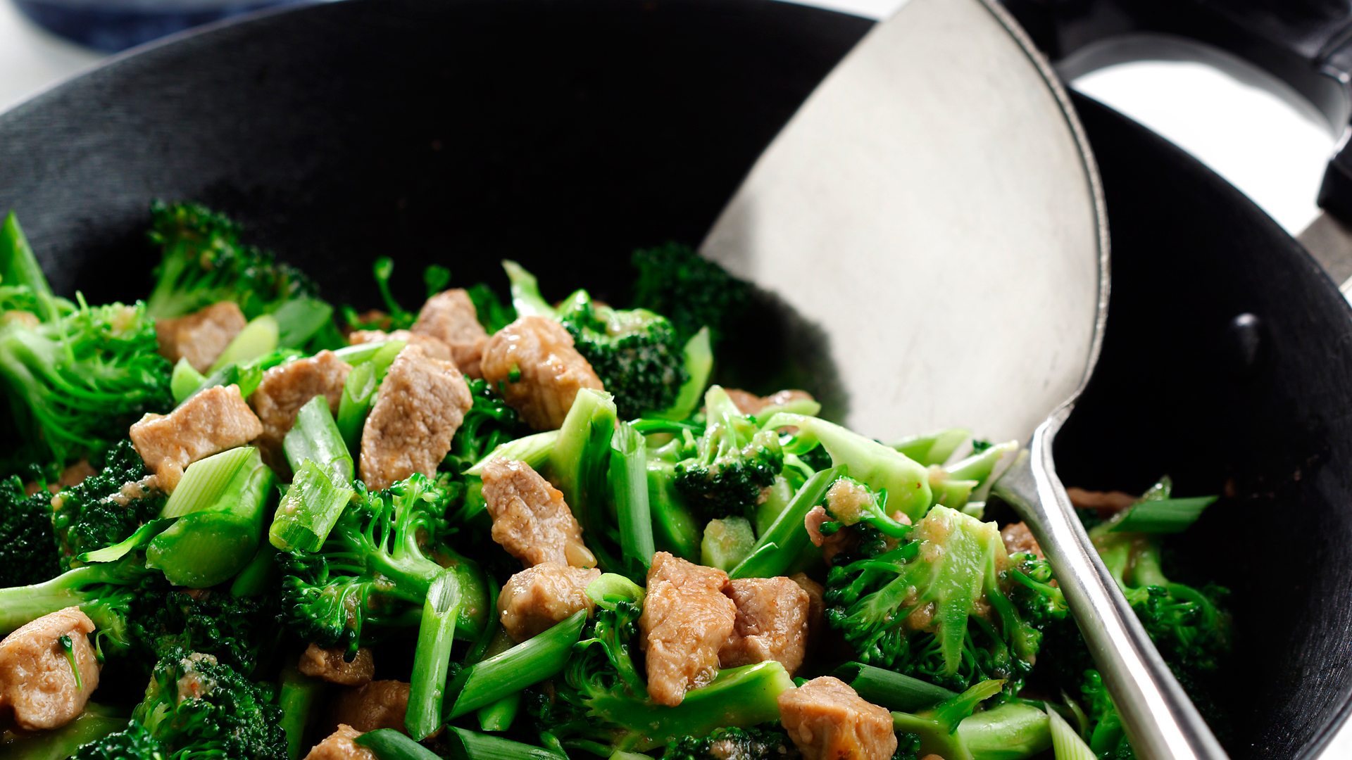
<path fill-rule="evenodd" d="M 30 732 L 73 721 L 99 688 L 99 659 L 89 645 L 93 621 L 80 607 L 43 615 L 0 641 L 0 714 Z M 80 686 L 59 638 L 70 637 Z"/>

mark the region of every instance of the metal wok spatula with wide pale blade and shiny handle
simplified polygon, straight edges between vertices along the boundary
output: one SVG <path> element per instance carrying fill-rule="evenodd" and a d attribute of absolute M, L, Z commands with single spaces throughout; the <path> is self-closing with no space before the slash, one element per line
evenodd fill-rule
<path fill-rule="evenodd" d="M 1065 93 L 1014 22 L 982 0 L 913 0 L 808 97 L 703 253 L 833 337 L 850 427 L 964 425 L 1028 444 L 1000 492 L 1051 560 L 1133 746 L 1220 759 L 1053 469 L 1103 333 L 1103 208 Z"/>

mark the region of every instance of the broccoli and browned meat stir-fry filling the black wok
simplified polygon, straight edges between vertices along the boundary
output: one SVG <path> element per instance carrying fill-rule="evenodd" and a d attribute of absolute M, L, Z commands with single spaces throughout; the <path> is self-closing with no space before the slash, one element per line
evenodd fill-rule
<path fill-rule="evenodd" d="M 91 304 L 0 231 L 4 757 L 1133 757 L 991 496 L 1018 444 L 725 387 L 756 291 L 691 249 L 626 307 L 504 261 L 411 311 L 381 258 L 358 311 L 200 206 L 149 241 Z M 1225 590 L 1161 554 L 1214 498 L 1171 490 L 1069 492 L 1214 714 Z"/>

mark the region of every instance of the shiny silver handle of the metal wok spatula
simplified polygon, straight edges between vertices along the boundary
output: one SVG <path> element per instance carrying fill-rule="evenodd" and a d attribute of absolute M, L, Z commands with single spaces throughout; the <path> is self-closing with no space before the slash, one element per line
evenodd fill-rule
<path fill-rule="evenodd" d="M 1056 476 L 1052 440 L 1071 407 L 1033 434 L 995 484 L 1037 538 L 1142 760 L 1224 760 L 1225 751 L 1136 618 Z"/>

